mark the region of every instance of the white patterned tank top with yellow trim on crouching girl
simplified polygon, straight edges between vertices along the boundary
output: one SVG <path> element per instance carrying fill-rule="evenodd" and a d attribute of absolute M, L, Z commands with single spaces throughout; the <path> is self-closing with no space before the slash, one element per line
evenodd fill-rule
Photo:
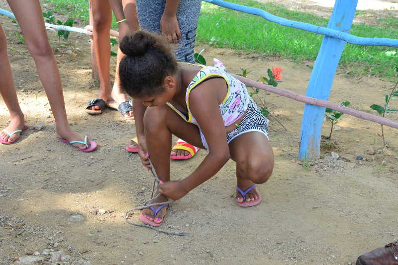
<path fill-rule="evenodd" d="M 221 77 L 227 83 L 228 91 L 227 94 L 219 105 L 222 119 L 224 121 L 224 126 L 227 127 L 237 121 L 245 113 L 247 106 L 249 104 L 249 94 L 245 84 L 231 76 L 226 72 L 226 68 L 217 59 L 214 60 L 214 66 L 201 66 L 200 71 L 195 75 L 194 79 L 187 87 L 187 93 L 185 96 L 185 102 L 187 103 L 188 117 L 176 109 L 169 102 L 166 103 L 170 108 L 172 108 L 177 114 L 179 114 L 186 122 L 196 124 L 199 127 L 198 122 L 190 111 L 189 105 L 189 95 L 192 89 L 198 86 L 204 80 L 211 77 Z M 182 63 L 184 64 L 184 63 Z"/>

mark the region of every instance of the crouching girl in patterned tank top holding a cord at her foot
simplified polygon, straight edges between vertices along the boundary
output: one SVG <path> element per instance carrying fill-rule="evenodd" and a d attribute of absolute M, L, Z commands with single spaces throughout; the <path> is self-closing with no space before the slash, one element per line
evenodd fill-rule
<path fill-rule="evenodd" d="M 246 86 L 222 64 L 177 63 L 163 37 L 137 31 L 123 38 L 119 66 L 121 88 L 134 99 L 140 157 L 149 167 L 150 154 L 161 183 L 155 202 L 180 199 L 236 162 L 236 202 L 261 202 L 256 184 L 271 176 L 274 155 L 268 141 L 268 120 L 249 97 Z M 220 62 L 219 62 L 220 63 Z M 206 149 L 199 167 L 183 180 L 170 180 L 172 134 Z M 142 222 L 159 226 L 167 204 L 142 210 Z"/>

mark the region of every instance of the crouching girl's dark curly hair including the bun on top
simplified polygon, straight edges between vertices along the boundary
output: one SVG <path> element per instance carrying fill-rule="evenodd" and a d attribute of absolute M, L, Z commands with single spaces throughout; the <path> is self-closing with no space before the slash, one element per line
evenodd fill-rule
<path fill-rule="evenodd" d="M 163 80 L 177 72 L 173 46 L 166 38 L 144 30 L 126 35 L 120 50 L 125 54 L 119 64 L 121 89 L 131 97 L 164 92 Z"/>

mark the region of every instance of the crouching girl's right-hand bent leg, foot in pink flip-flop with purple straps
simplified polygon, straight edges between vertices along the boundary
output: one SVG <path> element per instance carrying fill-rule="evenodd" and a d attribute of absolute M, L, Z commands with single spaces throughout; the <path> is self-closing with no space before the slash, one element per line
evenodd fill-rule
<path fill-rule="evenodd" d="M 236 192 L 238 205 L 258 204 L 261 196 L 257 188 L 246 194 L 245 191 L 255 184 L 265 183 L 272 174 L 274 154 L 267 136 L 260 132 L 243 133 L 230 142 L 229 150 L 231 159 L 236 162 L 236 186 L 240 189 Z"/>

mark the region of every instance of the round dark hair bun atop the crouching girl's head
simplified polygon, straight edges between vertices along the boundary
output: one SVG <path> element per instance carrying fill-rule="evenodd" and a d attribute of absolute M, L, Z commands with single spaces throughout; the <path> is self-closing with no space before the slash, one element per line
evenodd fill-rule
<path fill-rule="evenodd" d="M 120 42 L 120 50 L 127 56 L 144 55 L 156 43 L 156 38 L 143 30 L 126 35 Z"/>

